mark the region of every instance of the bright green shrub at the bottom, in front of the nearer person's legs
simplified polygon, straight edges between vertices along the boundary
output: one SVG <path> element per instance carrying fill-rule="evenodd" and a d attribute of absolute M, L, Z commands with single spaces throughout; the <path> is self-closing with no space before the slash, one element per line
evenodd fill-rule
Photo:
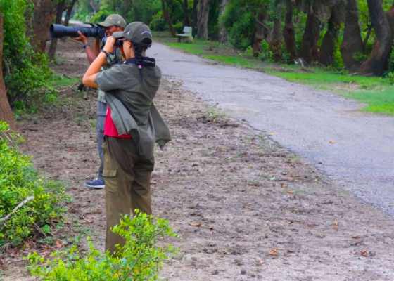
<path fill-rule="evenodd" d="M 94 249 L 89 240 L 89 253 L 81 257 L 77 247 L 65 252 L 54 252 L 53 261 L 44 259 L 37 253 L 30 254 L 27 259 L 32 263 L 32 275 L 44 280 L 157 280 L 162 263 L 167 254 L 174 254 L 177 249 L 171 245 L 160 247 L 158 239 L 172 233 L 170 226 L 163 218 L 153 218 L 136 210 L 136 216 L 125 216 L 114 233 L 125 238 L 124 247 L 118 247 L 116 255 L 110 256 L 109 251 L 102 254 Z"/>

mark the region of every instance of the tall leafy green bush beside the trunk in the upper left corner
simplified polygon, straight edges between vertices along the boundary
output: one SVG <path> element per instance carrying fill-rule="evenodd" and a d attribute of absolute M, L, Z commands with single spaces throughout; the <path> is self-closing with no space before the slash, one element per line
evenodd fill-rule
<path fill-rule="evenodd" d="M 26 23 L 34 5 L 31 0 L 0 1 L 4 15 L 3 74 L 11 107 L 16 101 L 29 106 L 40 103 L 48 91 L 51 70 L 46 55 L 35 53 L 26 37 Z"/>

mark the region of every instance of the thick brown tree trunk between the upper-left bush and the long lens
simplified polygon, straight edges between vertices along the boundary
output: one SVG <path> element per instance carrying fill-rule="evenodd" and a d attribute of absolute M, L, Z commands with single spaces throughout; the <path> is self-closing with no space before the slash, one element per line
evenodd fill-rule
<path fill-rule="evenodd" d="M 46 48 L 46 42 L 51 40 L 49 37 L 49 27 L 53 22 L 53 8 L 54 4 L 52 0 L 34 0 L 34 11 L 33 18 L 27 22 L 29 28 L 27 28 L 27 36 L 31 36 L 30 45 L 34 48 L 34 51 L 44 53 Z"/>

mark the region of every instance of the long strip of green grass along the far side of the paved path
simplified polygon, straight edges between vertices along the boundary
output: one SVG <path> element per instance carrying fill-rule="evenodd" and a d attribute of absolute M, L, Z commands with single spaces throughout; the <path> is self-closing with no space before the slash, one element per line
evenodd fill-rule
<path fill-rule="evenodd" d="M 394 115 L 394 85 L 389 83 L 389 79 L 341 74 L 321 67 L 269 63 L 248 58 L 243 51 L 229 45 L 220 46 L 217 41 L 195 39 L 193 44 L 184 44 L 175 43 L 177 39 L 170 37 L 167 32 L 156 32 L 154 35 L 166 46 L 227 65 L 262 71 L 315 89 L 333 91 L 346 98 L 365 103 L 367 107 L 363 108 L 363 111 Z"/>

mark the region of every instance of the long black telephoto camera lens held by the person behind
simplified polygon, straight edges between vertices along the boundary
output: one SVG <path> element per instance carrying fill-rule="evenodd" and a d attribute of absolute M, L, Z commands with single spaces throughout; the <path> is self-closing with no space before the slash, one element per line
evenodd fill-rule
<path fill-rule="evenodd" d="M 65 27 L 64 25 L 51 25 L 49 34 L 51 38 L 62 38 L 62 37 L 79 37 L 80 31 L 85 37 L 95 37 L 103 39 L 106 37 L 106 29 L 104 27 L 89 23 L 91 27 L 75 26 Z"/>

